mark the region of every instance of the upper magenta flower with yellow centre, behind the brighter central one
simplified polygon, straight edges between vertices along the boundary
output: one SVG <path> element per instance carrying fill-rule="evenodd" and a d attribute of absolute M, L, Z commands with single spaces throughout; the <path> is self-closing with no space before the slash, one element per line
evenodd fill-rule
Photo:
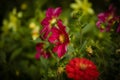
<path fill-rule="evenodd" d="M 42 38 L 46 39 L 48 34 L 50 33 L 52 27 L 57 22 L 58 16 L 62 12 L 61 8 L 48 8 L 46 11 L 46 17 L 42 20 L 41 25 L 43 29 L 40 31 L 42 34 Z"/>

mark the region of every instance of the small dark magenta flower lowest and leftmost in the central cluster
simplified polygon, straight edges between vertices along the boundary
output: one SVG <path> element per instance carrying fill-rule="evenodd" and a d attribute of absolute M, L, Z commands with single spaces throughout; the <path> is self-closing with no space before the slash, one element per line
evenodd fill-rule
<path fill-rule="evenodd" d="M 40 56 L 43 56 L 44 58 L 49 58 L 50 57 L 50 52 L 47 52 L 44 49 L 44 43 L 38 43 L 36 45 L 36 50 L 37 50 L 37 53 L 35 55 L 36 59 L 39 59 Z"/>

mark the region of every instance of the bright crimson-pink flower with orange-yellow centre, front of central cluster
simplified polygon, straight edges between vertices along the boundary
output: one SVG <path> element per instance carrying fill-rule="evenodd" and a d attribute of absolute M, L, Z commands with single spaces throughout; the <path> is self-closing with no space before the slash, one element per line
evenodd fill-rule
<path fill-rule="evenodd" d="M 49 42 L 55 44 L 53 52 L 56 52 L 58 57 L 61 58 L 67 51 L 67 45 L 69 43 L 69 37 L 65 31 L 65 26 L 62 24 L 62 21 L 57 22 L 58 28 L 52 28 L 52 34 L 49 37 Z"/>

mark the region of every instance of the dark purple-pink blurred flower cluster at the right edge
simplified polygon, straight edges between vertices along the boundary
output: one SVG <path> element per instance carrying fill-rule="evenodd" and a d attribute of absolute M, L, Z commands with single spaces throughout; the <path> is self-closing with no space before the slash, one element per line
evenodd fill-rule
<path fill-rule="evenodd" d="M 115 23 L 118 23 L 116 31 L 120 32 L 120 17 L 116 16 L 115 12 L 116 9 L 113 7 L 113 5 L 110 5 L 106 12 L 98 14 L 98 21 L 96 25 L 101 32 L 109 32 Z"/>

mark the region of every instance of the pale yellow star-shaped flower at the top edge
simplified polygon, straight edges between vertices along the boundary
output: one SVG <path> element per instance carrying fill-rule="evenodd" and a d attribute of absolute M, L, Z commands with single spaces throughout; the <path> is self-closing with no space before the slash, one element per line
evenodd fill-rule
<path fill-rule="evenodd" d="M 94 11 L 91 8 L 91 4 L 88 2 L 88 0 L 75 0 L 76 3 L 71 4 L 71 8 L 74 9 L 74 12 L 77 12 L 79 10 L 83 11 L 83 14 L 93 14 Z"/>

